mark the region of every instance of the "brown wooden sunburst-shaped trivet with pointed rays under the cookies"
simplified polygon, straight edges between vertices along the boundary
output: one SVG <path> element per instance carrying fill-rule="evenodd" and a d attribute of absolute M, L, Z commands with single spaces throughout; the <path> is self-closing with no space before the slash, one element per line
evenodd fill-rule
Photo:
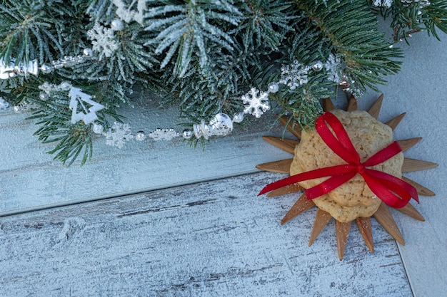
<path fill-rule="evenodd" d="M 378 114 L 380 113 L 381 110 L 382 101 L 383 101 L 383 94 L 376 100 L 376 103 L 374 103 L 373 106 L 368 110 L 368 113 L 372 115 L 373 118 L 376 119 L 378 118 Z M 331 99 L 327 98 L 323 102 L 323 109 L 325 111 L 329 111 L 329 110 L 335 110 L 336 108 L 333 105 Z M 349 98 L 348 108 L 346 108 L 346 110 L 347 111 L 358 110 L 357 100 L 353 96 Z M 385 124 L 391 127 L 392 130 L 394 130 L 401 122 L 404 116 L 405 113 L 402 113 L 401 115 L 398 115 L 396 118 L 389 120 Z M 290 123 L 290 120 L 285 116 L 281 117 L 279 121 L 282 125 L 286 126 L 287 130 L 289 130 L 293 135 L 295 135 L 298 138 L 298 140 L 283 139 L 281 137 L 272 137 L 272 136 L 263 136 L 263 140 L 266 140 L 266 142 L 270 143 L 271 145 L 274 145 L 275 147 L 278 147 L 281 150 L 284 150 L 294 155 L 295 147 L 296 145 L 299 144 L 299 139 L 301 138 L 301 128 L 298 127 L 298 125 L 293 126 L 292 123 Z M 398 140 L 398 143 L 399 145 L 401 145 L 402 151 L 404 152 L 408 150 L 410 147 L 413 147 L 413 145 L 416 145 L 416 143 L 418 143 L 421 140 L 422 140 L 421 137 L 416 137 L 407 140 Z M 270 172 L 290 174 L 289 170 L 292 160 L 293 158 L 263 163 L 257 165 L 256 168 Z M 436 163 L 432 162 L 404 158 L 402 165 L 402 173 L 413 172 L 417 170 L 426 170 L 437 166 L 438 165 Z M 409 184 L 413 185 L 413 187 L 416 188 L 419 195 L 423 196 L 435 195 L 431 190 L 427 189 L 426 187 L 423 187 L 421 184 L 418 184 L 411 179 L 408 179 L 406 177 L 402 177 L 402 179 L 408 182 Z M 289 186 L 273 190 L 272 192 L 267 194 L 267 197 L 275 197 L 282 194 L 299 192 L 302 190 L 303 187 L 300 187 L 298 184 L 291 184 Z M 283 217 L 283 219 L 281 220 L 281 224 L 285 224 L 294 217 L 297 217 L 299 214 L 306 212 L 306 210 L 310 209 L 313 206 L 315 206 L 315 204 L 311 200 L 307 199 L 306 194 L 302 194 L 301 197 L 298 199 L 298 201 L 295 204 L 293 204 L 293 207 L 291 207 L 291 209 L 287 212 L 286 216 Z M 419 221 L 425 221 L 425 219 L 416 210 L 416 208 L 414 208 L 413 205 L 409 203 L 406 204 L 405 207 L 398 209 L 398 211 L 408 215 L 409 217 L 412 217 L 413 219 L 417 219 Z M 373 214 L 373 217 L 377 220 L 379 224 L 383 226 L 384 229 L 386 229 L 386 231 L 388 231 L 389 234 L 391 234 L 391 236 L 393 236 L 394 239 L 396 239 L 396 241 L 398 241 L 399 244 L 405 245 L 405 241 L 403 240 L 401 231 L 399 231 L 398 226 L 396 225 L 396 222 L 394 221 L 393 216 L 391 215 L 391 212 L 386 204 L 381 202 L 380 207 L 378 207 L 378 210 Z M 313 228 L 311 231 L 311 236 L 308 244 L 309 246 L 313 244 L 313 241 L 316 240 L 318 235 L 324 229 L 326 224 L 328 224 L 331 218 L 332 216 L 328 212 L 324 212 L 321 209 L 317 210 L 315 222 L 313 223 Z M 363 236 L 366 246 L 368 246 L 368 249 L 371 252 L 373 252 L 374 243 L 373 243 L 373 233 L 371 228 L 370 217 L 358 217 L 357 219 L 355 219 L 355 221 L 358 225 L 358 229 L 360 230 L 361 235 Z M 348 235 L 351 229 L 351 222 L 342 223 L 336 220 L 338 258 L 340 260 L 343 259 L 343 254 L 346 249 L 346 243 L 348 241 Z"/>

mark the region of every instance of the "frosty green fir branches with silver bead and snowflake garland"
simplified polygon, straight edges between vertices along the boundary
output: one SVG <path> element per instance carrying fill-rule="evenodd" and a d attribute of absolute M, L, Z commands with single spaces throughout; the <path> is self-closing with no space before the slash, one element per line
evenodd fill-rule
<path fill-rule="evenodd" d="M 339 86 L 359 97 L 400 70 L 395 42 L 447 32 L 440 0 L 7 0 L 0 18 L 0 112 L 31 110 L 68 164 L 91 157 L 93 135 L 197 142 L 271 109 L 311 127 Z M 186 129 L 132 132 L 119 106 L 136 84 L 178 106 Z"/>

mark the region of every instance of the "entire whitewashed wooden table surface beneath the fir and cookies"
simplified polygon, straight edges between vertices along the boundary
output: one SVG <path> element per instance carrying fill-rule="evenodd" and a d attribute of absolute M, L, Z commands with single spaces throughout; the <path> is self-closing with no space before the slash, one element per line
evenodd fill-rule
<path fill-rule="evenodd" d="M 372 220 L 371 254 L 353 224 L 339 261 L 333 221 L 308 247 L 315 210 L 281 226 L 297 197 L 256 197 L 283 176 L 254 168 L 289 157 L 261 140 L 279 127 L 255 123 L 204 150 L 181 141 L 118 150 L 98 140 L 91 162 L 65 168 L 31 136 L 26 114 L 0 113 L 0 296 L 446 296 L 441 37 L 421 33 L 403 45 L 403 70 L 381 87 L 379 120 L 406 112 L 395 138 L 423 137 L 406 156 L 439 164 L 407 175 L 437 195 L 416 205 L 426 222 L 393 212 L 406 246 Z M 174 125 L 176 113 L 145 99 L 134 129 Z"/>

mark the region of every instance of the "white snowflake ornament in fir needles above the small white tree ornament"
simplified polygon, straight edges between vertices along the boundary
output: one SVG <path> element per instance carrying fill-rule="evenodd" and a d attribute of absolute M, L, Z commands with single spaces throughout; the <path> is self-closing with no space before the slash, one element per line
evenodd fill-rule
<path fill-rule="evenodd" d="M 93 50 L 100 53 L 99 59 L 102 56 L 109 58 L 116 49 L 118 43 L 115 40 L 114 30 L 111 28 L 104 28 L 96 23 L 91 30 L 87 31 L 87 35 L 92 40 Z"/>

